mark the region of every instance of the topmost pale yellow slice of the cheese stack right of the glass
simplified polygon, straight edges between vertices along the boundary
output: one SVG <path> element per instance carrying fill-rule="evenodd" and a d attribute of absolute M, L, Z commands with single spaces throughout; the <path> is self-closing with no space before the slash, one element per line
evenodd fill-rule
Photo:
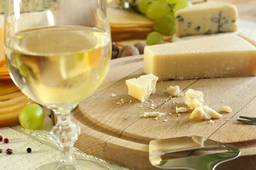
<path fill-rule="evenodd" d="M 148 18 L 122 9 L 108 8 L 111 26 L 153 26 L 154 22 Z"/>

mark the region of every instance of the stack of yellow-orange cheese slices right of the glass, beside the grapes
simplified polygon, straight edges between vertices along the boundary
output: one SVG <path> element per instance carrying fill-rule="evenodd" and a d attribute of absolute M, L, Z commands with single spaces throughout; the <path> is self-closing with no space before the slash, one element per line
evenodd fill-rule
<path fill-rule="evenodd" d="M 142 39 L 153 30 L 154 22 L 129 11 L 108 8 L 112 41 Z"/>

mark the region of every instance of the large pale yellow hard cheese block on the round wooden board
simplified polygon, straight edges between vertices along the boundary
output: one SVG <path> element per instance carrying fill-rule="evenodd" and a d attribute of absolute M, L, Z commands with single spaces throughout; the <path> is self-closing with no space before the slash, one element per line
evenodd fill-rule
<path fill-rule="evenodd" d="M 147 46 L 144 72 L 158 80 L 256 75 L 256 47 L 233 34 Z"/>

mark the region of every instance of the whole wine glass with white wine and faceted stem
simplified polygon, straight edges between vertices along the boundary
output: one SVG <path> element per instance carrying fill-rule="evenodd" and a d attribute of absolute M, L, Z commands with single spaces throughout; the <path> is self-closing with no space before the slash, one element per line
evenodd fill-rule
<path fill-rule="evenodd" d="M 58 116 L 50 139 L 58 145 L 61 160 L 41 169 L 103 169 L 74 158 L 80 129 L 71 122 L 70 110 L 90 96 L 108 72 L 106 0 L 6 0 L 5 53 L 20 90 Z"/>

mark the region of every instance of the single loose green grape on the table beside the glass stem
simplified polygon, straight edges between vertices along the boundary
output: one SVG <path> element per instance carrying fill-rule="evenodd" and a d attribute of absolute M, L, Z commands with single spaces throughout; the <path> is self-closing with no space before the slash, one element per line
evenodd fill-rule
<path fill-rule="evenodd" d="M 21 109 L 20 124 L 26 129 L 37 129 L 44 122 L 44 110 L 38 104 L 29 104 Z"/>

